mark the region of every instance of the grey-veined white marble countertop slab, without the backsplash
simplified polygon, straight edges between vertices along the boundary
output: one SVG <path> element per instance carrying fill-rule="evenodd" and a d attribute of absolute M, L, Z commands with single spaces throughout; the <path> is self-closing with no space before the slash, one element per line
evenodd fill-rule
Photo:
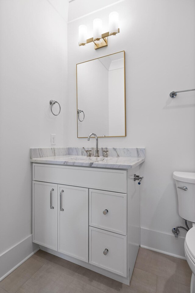
<path fill-rule="evenodd" d="M 78 156 L 81 157 L 81 155 L 78 155 L 78 154 L 74 154 L 74 155 L 70 154 L 70 155 L 60 155 L 60 156 L 54 156 L 54 157 L 31 158 L 30 161 L 33 163 L 41 163 L 41 164 L 69 165 L 69 166 L 81 166 L 81 167 L 85 166 L 85 167 L 114 168 L 114 169 L 116 168 L 117 169 L 132 169 L 145 161 L 145 157 L 108 157 L 108 158 L 90 157 L 90 160 L 87 160 L 89 159 L 87 158 L 87 156 L 82 156 L 81 159 L 80 158 L 76 159 L 76 157 Z M 101 158 L 103 160 L 101 160 Z M 98 161 L 99 159 L 101 161 Z"/>

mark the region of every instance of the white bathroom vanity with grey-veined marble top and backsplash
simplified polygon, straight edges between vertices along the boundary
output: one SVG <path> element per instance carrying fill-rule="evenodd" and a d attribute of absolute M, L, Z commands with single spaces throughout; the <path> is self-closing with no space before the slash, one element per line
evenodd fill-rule
<path fill-rule="evenodd" d="M 134 175 L 138 179 L 145 152 L 107 150 L 115 156 L 103 158 L 101 149 L 99 158 L 87 158 L 84 148 L 31 149 L 33 242 L 129 284 L 140 246 Z"/>

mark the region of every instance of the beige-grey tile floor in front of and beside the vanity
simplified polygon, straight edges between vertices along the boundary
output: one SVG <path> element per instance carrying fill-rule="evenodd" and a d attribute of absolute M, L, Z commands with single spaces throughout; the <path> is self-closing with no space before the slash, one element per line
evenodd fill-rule
<path fill-rule="evenodd" d="M 187 262 L 139 249 L 130 286 L 44 251 L 0 282 L 0 293 L 190 293 Z"/>

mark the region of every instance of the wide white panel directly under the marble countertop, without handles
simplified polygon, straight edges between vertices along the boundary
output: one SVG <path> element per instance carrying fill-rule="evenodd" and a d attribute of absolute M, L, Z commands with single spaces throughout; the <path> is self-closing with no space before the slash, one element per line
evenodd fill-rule
<path fill-rule="evenodd" d="M 33 164 L 33 180 L 92 189 L 127 192 L 127 171 Z"/>

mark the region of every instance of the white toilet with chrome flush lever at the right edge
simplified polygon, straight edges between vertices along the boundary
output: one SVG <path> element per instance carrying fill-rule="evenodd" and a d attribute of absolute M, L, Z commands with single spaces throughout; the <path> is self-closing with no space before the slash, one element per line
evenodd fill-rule
<path fill-rule="evenodd" d="M 186 234 L 184 250 L 192 270 L 190 293 L 195 293 L 195 173 L 173 172 L 173 178 L 177 186 L 179 215 L 193 225 Z"/>

